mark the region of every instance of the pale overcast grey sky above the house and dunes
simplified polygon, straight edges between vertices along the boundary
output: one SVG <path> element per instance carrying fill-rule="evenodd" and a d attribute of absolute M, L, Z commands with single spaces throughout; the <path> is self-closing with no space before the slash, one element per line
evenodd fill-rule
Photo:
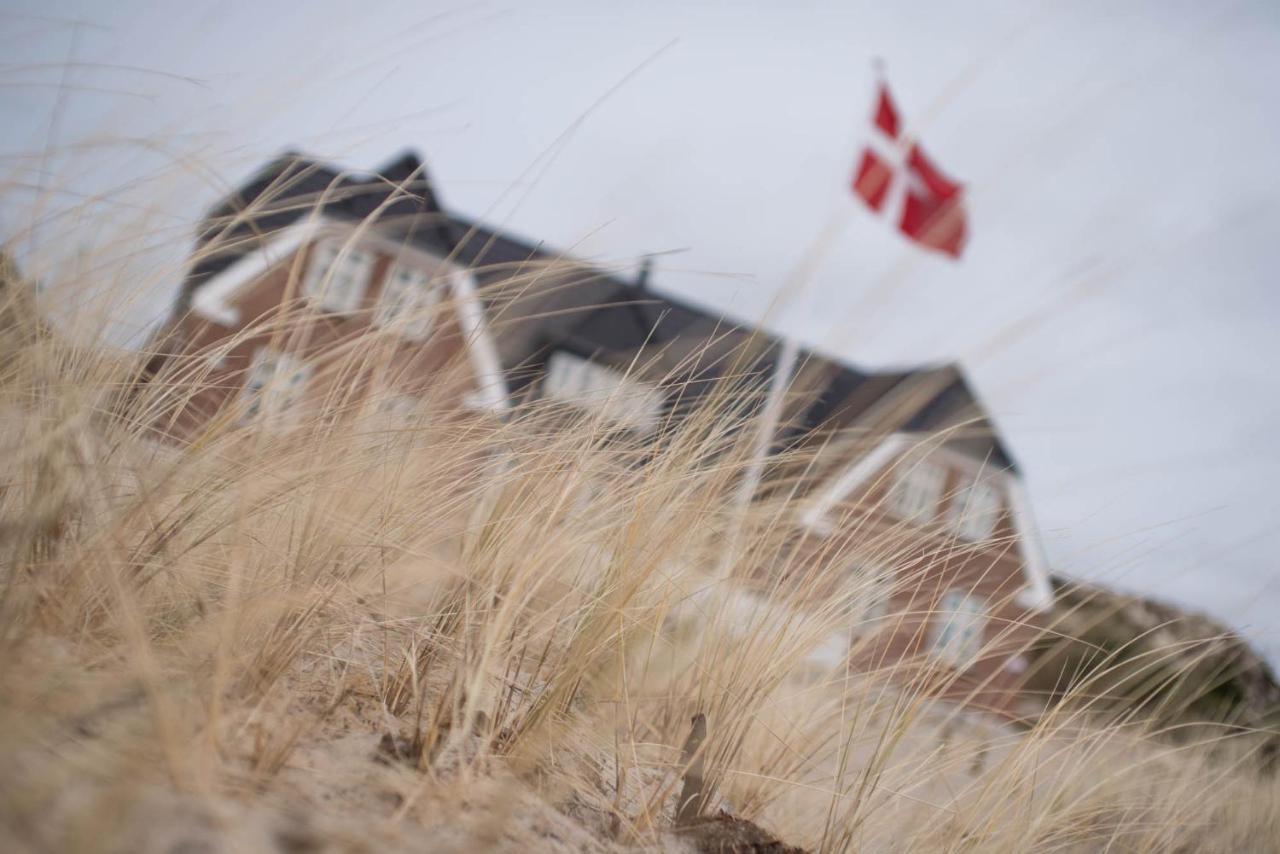
<path fill-rule="evenodd" d="M 865 367 L 960 360 L 1060 570 L 1280 650 L 1275 3 L 0 15 L 0 229 L 26 234 L 36 197 L 50 216 L 109 193 L 56 227 L 72 248 L 154 248 L 131 324 L 165 307 L 200 210 L 284 147 L 353 168 L 419 149 L 447 205 L 602 261 L 664 252 L 658 287 L 748 320 L 849 211 L 809 296 L 771 323 Z M 847 193 L 874 56 L 968 187 L 959 264 Z"/>

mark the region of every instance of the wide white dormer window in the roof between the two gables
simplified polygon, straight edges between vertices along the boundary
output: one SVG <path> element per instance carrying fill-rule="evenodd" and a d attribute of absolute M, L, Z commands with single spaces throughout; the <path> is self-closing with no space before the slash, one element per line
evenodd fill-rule
<path fill-rule="evenodd" d="M 543 392 L 640 433 L 655 430 L 666 407 L 666 397 L 654 385 L 563 350 L 547 364 Z"/>

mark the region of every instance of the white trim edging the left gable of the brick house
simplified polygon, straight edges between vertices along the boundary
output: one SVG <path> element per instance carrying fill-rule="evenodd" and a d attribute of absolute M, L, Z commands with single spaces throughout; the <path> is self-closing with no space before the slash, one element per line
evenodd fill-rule
<path fill-rule="evenodd" d="M 241 321 L 239 311 L 229 303 L 230 297 L 242 287 L 261 277 L 291 254 L 324 234 L 340 234 L 356 229 L 340 220 L 317 216 L 302 223 L 294 223 L 275 232 L 268 243 L 242 255 L 225 270 L 200 284 L 191 301 L 193 314 L 223 326 L 234 326 Z M 412 246 L 404 246 L 385 237 L 362 232 L 351 234 L 360 242 L 388 252 L 393 257 L 424 257 L 435 262 L 448 261 Z M 449 265 L 452 266 L 452 264 Z M 498 348 L 485 320 L 484 306 L 476 293 L 475 275 L 468 269 L 454 268 L 445 277 L 457 306 L 458 324 L 465 337 L 467 357 L 479 387 L 475 403 L 479 407 L 506 412 L 511 408 L 507 391 L 507 375 L 498 359 Z"/>

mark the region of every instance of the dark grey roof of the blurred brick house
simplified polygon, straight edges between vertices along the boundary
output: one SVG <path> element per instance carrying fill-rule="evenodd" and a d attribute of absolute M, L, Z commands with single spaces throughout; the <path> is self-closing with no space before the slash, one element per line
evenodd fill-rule
<path fill-rule="evenodd" d="M 271 232 L 317 211 L 351 220 L 376 215 L 384 234 L 470 266 L 516 389 L 539 375 L 553 348 L 626 366 L 643 364 L 663 379 L 678 378 L 690 397 L 724 379 L 763 387 L 772 375 L 781 346 L 776 337 L 445 211 L 412 152 L 376 173 L 338 172 L 294 152 L 262 166 L 201 223 L 178 311 L 186 311 L 202 282 Z M 874 414 L 887 429 L 952 430 L 950 444 L 1014 469 L 955 365 L 868 373 L 804 351 L 792 392 L 796 401 L 780 446 L 859 425 Z"/>

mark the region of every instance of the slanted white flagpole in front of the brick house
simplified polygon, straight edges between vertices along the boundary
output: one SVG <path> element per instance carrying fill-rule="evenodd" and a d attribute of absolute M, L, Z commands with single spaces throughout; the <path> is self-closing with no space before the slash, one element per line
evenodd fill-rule
<path fill-rule="evenodd" d="M 818 232 L 813 243 L 809 245 L 808 251 L 801 256 L 800 262 L 787 278 L 786 286 L 783 286 L 769 303 L 764 318 L 769 315 L 776 316 L 780 309 L 795 302 L 808 289 L 822 262 L 831 255 L 837 238 L 852 219 L 852 205 L 842 205 L 827 218 L 827 223 Z M 764 398 L 764 407 L 760 410 L 759 424 L 751 443 L 751 456 L 749 457 L 746 469 L 742 471 L 741 480 L 739 480 L 737 492 L 733 495 L 733 517 L 731 520 L 728 548 L 724 551 L 724 560 L 721 565 L 722 579 L 728 577 L 733 565 L 737 562 L 746 513 L 751 506 L 751 501 L 755 498 L 755 493 L 760 488 L 760 480 L 764 478 L 764 466 L 777 437 L 778 424 L 782 421 L 786 391 L 791 385 L 799 360 L 799 339 L 794 335 L 783 334 L 782 346 L 773 365 L 773 376 L 769 378 L 769 389 Z"/>

